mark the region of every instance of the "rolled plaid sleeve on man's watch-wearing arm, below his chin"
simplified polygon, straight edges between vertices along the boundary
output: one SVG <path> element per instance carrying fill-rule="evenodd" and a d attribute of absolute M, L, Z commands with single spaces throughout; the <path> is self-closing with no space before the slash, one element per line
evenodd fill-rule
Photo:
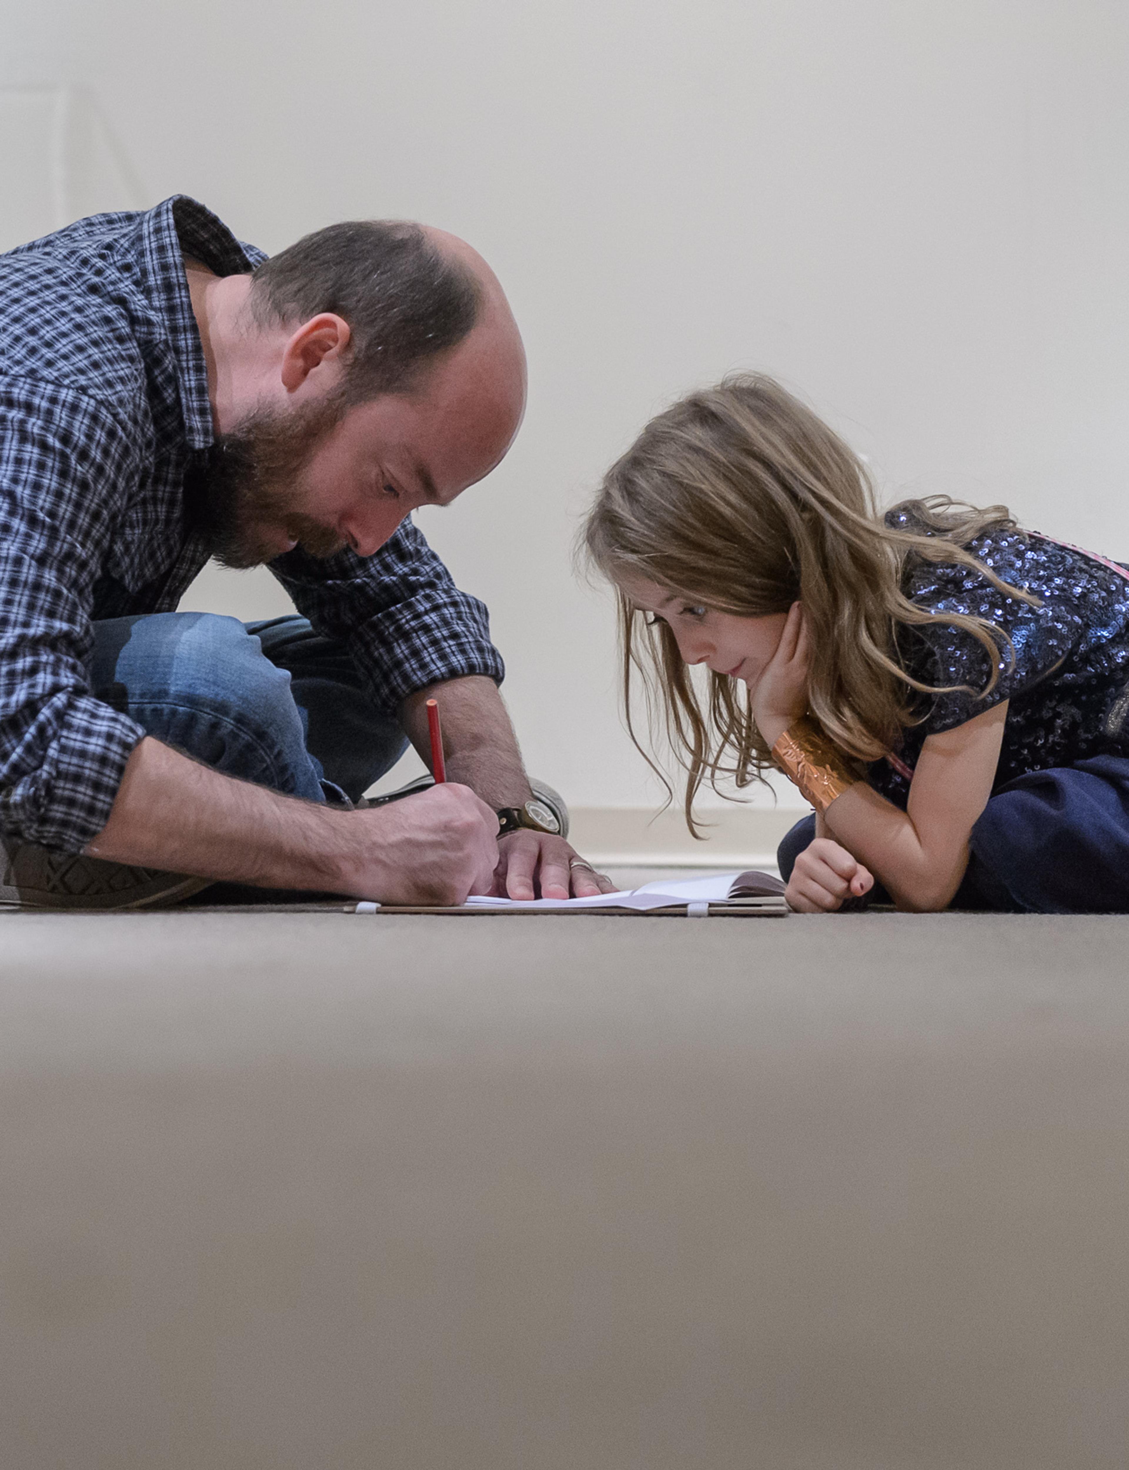
<path fill-rule="evenodd" d="M 320 634 L 350 645 L 382 709 L 398 709 L 428 684 L 504 678 L 485 606 L 459 591 L 410 520 L 370 557 L 343 551 L 316 562 L 297 550 L 270 570 Z"/>

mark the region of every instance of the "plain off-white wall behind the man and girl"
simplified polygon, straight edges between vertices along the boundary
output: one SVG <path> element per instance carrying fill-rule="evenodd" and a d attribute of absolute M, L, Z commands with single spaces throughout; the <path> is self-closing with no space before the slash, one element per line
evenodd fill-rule
<path fill-rule="evenodd" d="M 0 84 L 85 87 L 147 201 L 196 194 L 268 250 L 417 218 L 491 260 L 529 413 L 420 523 L 575 803 L 654 795 L 569 547 L 691 385 L 772 370 L 885 495 L 1004 500 L 1129 559 L 1123 0 L 6 0 L 3 34 Z M 266 573 L 190 600 L 284 606 Z"/>

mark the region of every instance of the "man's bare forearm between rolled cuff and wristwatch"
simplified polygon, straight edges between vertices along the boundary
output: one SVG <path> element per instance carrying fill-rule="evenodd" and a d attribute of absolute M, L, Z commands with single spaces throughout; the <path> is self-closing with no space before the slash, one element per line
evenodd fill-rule
<path fill-rule="evenodd" d="M 400 719 L 409 739 L 431 766 L 426 701 L 438 701 L 447 779 L 470 786 L 488 807 L 519 807 L 531 797 L 517 736 L 492 679 L 470 675 L 417 689 Z"/>

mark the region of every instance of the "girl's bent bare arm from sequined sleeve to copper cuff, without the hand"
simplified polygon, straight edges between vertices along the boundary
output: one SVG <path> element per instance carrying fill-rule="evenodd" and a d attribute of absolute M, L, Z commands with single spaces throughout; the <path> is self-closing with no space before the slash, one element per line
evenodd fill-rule
<path fill-rule="evenodd" d="M 1007 701 L 931 735 L 906 811 L 859 782 L 831 803 L 828 832 L 882 881 L 898 908 L 953 901 L 969 866 L 969 835 L 992 794 Z"/>

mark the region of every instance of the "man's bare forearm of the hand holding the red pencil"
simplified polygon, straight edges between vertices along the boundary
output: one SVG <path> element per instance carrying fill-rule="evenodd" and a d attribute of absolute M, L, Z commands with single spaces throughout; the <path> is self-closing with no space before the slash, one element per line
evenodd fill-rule
<path fill-rule="evenodd" d="M 351 845 L 347 813 L 235 781 L 147 736 L 87 851 L 263 888 L 335 891 Z"/>

